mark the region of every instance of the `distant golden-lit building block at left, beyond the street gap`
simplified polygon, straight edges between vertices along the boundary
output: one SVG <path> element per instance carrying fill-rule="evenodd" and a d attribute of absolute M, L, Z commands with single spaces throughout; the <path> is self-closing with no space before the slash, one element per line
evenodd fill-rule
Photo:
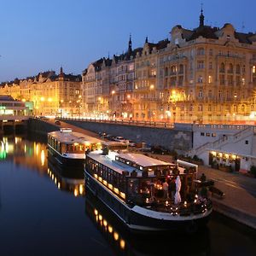
<path fill-rule="evenodd" d="M 0 93 L 23 102 L 33 102 L 35 115 L 79 115 L 83 109 L 81 76 L 61 71 L 38 73 L 37 76 L 5 84 Z"/>

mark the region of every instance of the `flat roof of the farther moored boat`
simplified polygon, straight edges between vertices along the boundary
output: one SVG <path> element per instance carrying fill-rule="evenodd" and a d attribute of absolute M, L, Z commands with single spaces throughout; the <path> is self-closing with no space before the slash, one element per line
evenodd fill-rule
<path fill-rule="evenodd" d="M 70 132 L 62 132 L 62 131 L 52 131 L 49 132 L 48 135 L 55 137 L 55 139 L 61 143 L 102 143 L 101 140 L 96 137 L 90 137 L 85 135 L 84 133 L 70 131 Z"/>

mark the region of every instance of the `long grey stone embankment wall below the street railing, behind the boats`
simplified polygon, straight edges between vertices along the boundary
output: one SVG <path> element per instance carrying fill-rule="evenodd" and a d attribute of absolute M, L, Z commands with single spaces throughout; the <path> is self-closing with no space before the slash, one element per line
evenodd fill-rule
<path fill-rule="evenodd" d="M 137 125 L 119 125 L 100 123 L 96 121 L 63 120 L 71 125 L 94 132 L 106 132 L 114 136 L 122 136 L 137 143 L 145 142 L 151 145 L 160 145 L 169 150 L 186 153 L 192 148 L 192 131 L 187 125 L 178 125 L 176 128 L 157 128 Z"/>

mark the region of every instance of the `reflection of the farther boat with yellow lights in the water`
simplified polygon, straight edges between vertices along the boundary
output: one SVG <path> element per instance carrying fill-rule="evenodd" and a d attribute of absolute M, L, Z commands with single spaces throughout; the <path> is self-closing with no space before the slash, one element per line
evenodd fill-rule
<path fill-rule="evenodd" d="M 75 197 L 84 195 L 84 170 L 60 166 L 53 156 L 48 155 L 47 174 L 56 187 L 72 193 Z"/>

